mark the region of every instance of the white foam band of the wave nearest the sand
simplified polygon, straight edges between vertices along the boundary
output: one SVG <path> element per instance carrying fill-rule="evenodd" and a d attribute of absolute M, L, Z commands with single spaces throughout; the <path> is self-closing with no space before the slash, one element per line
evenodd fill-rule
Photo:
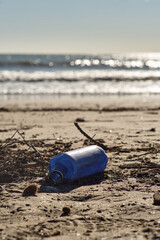
<path fill-rule="evenodd" d="M 159 81 L 98 81 L 98 82 L 8 82 L 0 83 L 0 94 L 160 94 Z"/>

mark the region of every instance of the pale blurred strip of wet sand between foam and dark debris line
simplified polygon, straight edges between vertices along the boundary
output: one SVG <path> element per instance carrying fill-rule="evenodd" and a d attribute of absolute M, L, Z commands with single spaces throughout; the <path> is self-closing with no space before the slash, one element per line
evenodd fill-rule
<path fill-rule="evenodd" d="M 160 95 L 110 96 L 0 96 L 0 108 L 16 110 L 158 109 Z"/>

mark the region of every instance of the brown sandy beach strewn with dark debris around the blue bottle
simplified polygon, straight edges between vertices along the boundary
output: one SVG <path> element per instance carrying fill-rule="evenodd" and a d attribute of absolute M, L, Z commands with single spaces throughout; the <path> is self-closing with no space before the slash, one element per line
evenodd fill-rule
<path fill-rule="evenodd" d="M 160 239 L 159 118 L 158 96 L 2 99 L 0 238 Z M 53 156 L 93 144 L 74 121 L 106 146 L 104 173 L 23 197 L 30 183 L 50 184 Z"/>

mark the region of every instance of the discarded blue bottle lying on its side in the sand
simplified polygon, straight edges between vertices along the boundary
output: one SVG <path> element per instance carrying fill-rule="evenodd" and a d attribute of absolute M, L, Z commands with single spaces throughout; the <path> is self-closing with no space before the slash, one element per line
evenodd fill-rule
<path fill-rule="evenodd" d="M 108 162 L 104 150 L 96 145 L 72 150 L 52 158 L 49 176 L 54 184 L 70 182 L 102 172 Z"/>

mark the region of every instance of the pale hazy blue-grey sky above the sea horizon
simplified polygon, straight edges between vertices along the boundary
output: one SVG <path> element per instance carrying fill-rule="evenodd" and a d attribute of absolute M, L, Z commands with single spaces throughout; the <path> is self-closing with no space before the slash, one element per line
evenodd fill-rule
<path fill-rule="evenodd" d="M 0 0 L 0 53 L 160 51 L 160 0 Z"/>

